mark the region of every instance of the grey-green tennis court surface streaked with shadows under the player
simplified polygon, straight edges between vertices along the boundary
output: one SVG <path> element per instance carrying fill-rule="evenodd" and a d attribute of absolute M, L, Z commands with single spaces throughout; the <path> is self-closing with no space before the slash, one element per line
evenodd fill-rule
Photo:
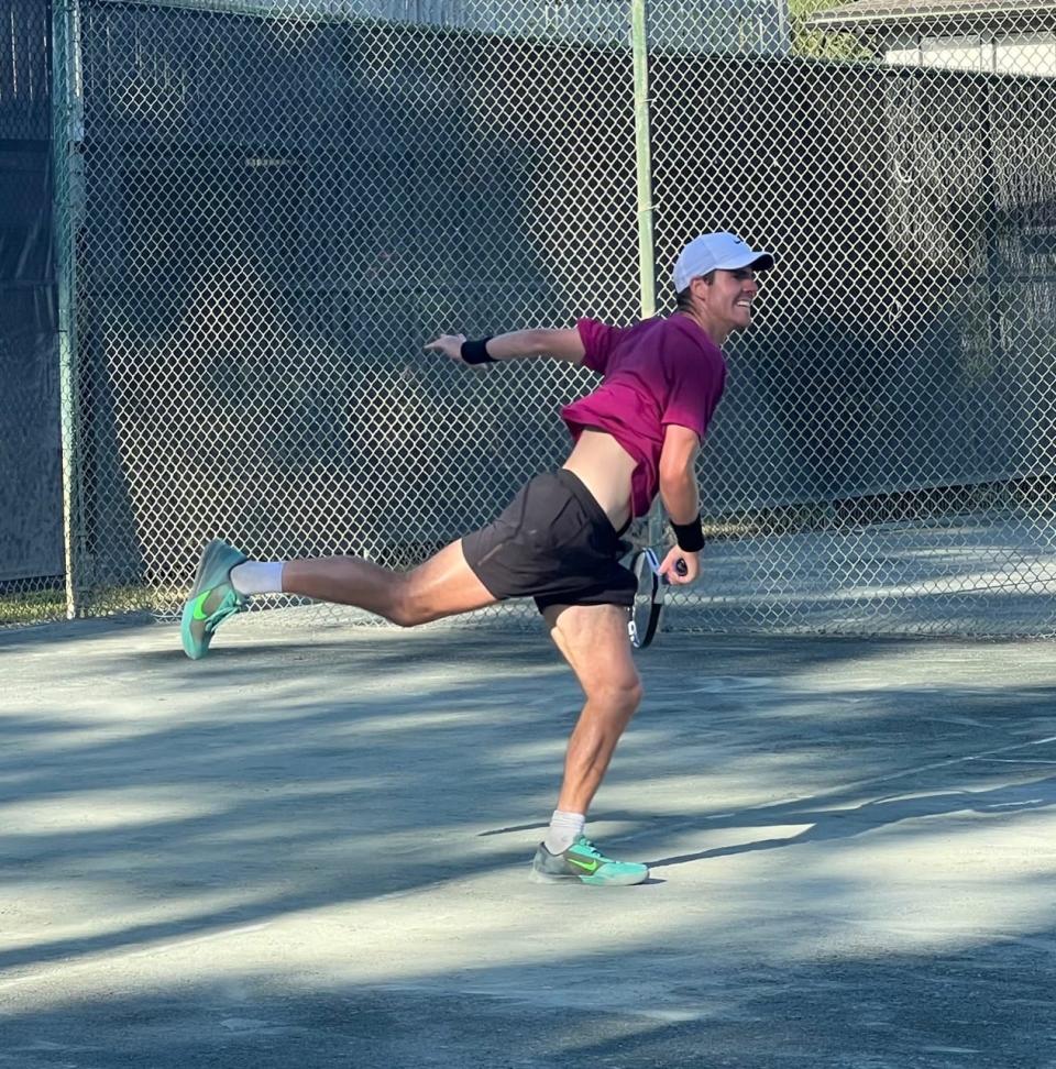
<path fill-rule="evenodd" d="M 1056 1066 L 1048 642 L 664 635 L 591 830 L 541 633 L 0 636 L 0 1066 Z"/>

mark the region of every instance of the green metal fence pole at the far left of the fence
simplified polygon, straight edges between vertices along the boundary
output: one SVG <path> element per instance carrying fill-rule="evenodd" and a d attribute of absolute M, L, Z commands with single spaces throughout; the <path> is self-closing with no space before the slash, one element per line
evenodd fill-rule
<path fill-rule="evenodd" d="M 63 447 L 63 548 L 66 560 L 66 616 L 81 609 L 79 540 L 79 454 L 77 419 L 76 190 L 79 188 L 80 142 L 80 9 L 78 0 L 55 0 L 52 8 L 52 152 L 54 161 L 53 233 L 58 290 L 59 420 Z"/>

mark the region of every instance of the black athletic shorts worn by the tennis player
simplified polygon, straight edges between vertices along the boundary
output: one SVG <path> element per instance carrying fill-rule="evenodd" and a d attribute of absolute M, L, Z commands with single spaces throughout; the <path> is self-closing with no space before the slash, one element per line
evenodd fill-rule
<path fill-rule="evenodd" d="M 462 539 L 466 562 L 495 597 L 534 597 L 540 613 L 550 605 L 634 605 L 638 584 L 619 563 L 630 549 L 563 467 L 537 475 L 494 524 Z"/>

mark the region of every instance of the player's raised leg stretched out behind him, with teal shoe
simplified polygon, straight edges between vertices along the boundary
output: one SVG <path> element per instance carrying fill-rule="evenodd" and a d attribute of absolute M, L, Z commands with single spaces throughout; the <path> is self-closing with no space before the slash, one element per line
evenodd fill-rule
<path fill-rule="evenodd" d="M 466 563 L 462 543 L 452 542 L 410 572 L 396 572 L 358 556 L 324 556 L 288 561 L 275 569 L 274 589 L 239 586 L 239 570 L 256 567 L 223 542 L 210 542 L 202 553 L 190 598 L 184 606 L 184 651 L 205 657 L 216 628 L 245 605 L 251 593 L 298 594 L 323 602 L 354 605 L 413 627 L 444 616 L 470 613 L 498 600 Z"/>

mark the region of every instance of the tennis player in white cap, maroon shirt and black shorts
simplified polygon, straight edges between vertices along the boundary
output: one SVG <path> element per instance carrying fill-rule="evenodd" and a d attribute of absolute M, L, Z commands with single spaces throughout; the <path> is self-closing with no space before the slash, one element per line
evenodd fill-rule
<path fill-rule="evenodd" d="M 568 330 L 477 341 L 437 338 L 426 349 L 455 363 L 550 357 L 600 373 L 597 389 L 562 410 L 575 442 L 569 459 L 531 480 L 493 524 L 406 573 L 358 556 L 250 561 L 210 542 L 184 607 L 187 655 L 204 657 L 217 627 L 254 594 L 354 605 L 403 627 L 534 597 L 586 702 L 531 878 L 641 883 L 646 866 L 606 857 L 585 835 L 587 809 L 641 702 L 627 640 L 637 583 L 619 563 L 628 549 L 620 536 L 659 492 L 676 542 L 660 571 L 675 586 L 697 578 L 704 538 L 694 462 L 725 384 L 722 345 L 750 324 L 757 273 L 772 266 L 770 253 L 734 234 L 703 234 L 678 257 L 678 305 L 668 318 L 625 328 L 581 319 Z"/>

